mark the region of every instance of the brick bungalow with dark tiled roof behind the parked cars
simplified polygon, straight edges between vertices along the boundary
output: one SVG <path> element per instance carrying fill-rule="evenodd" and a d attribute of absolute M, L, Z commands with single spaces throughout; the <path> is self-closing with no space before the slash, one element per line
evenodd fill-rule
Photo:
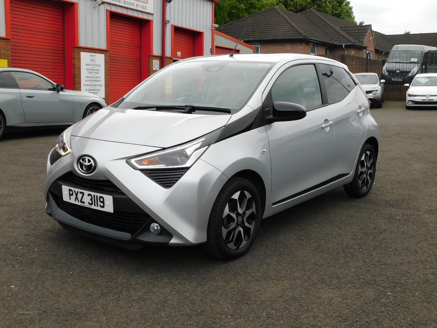
<path fill-rule="evenodd" d="M 347 54 L 381 60 L 395 44 L 437 45 L 437 33 L 385 35 L 310 9 L 299 14 L 272 7 L 219 26 L 261 53 Z"/>

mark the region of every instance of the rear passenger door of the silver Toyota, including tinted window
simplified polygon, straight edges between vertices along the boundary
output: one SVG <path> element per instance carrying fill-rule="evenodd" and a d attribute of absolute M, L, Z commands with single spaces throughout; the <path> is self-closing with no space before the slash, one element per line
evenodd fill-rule
<path fill-rule="evenodd" d="M 354 170 L 367 132 L 366 115 L 369 112 L 369 103 L 363 91 L 343 67 L 327 64 L 320 64 L 319 67 L 335 120 L 333 176 L 349 174 Z"/>

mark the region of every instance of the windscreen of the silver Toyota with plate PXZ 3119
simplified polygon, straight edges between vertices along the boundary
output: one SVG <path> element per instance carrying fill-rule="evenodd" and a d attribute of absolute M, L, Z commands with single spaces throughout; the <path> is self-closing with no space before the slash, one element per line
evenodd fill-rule
<path fill-rule="evenodd" d="M 273 63 L 187 61 L 156 73 L 119 106 L 198 106 L 242 108 Z M 149 108 L 151 110 L 151 108 Z"/>

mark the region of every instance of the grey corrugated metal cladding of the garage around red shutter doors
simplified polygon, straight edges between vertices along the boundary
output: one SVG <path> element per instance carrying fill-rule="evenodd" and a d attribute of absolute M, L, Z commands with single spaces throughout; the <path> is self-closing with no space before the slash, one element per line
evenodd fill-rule
<path fill-rule="evenodd" d="M 95 7 L 93 0 L 71 0 L 79 3 L 79 44 L 85 47 L 107 49 L 106 10 L 153 19 L 153 54 L 161 54 L 162 1 L 154 0 L 154 14 L 120 7 L 111 3 L 102 3 Z M 166 56 L 171 56 L 171 25 L 183 26 L 205 32 L 204 54 L 211 49 L 212 1 L 210 0 L 173 0 L 167 4 Z M 0 0 L 0 36 L 6 36 L 4 0 Z"/>

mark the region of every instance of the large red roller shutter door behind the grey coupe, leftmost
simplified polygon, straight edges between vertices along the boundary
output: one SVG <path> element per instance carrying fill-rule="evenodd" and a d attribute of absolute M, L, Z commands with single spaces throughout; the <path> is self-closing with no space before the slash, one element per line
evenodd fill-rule
<path fill-rule="evenodd" d="M 10 0 L 10 63 L 65 85 L 64 5 Z"/>

